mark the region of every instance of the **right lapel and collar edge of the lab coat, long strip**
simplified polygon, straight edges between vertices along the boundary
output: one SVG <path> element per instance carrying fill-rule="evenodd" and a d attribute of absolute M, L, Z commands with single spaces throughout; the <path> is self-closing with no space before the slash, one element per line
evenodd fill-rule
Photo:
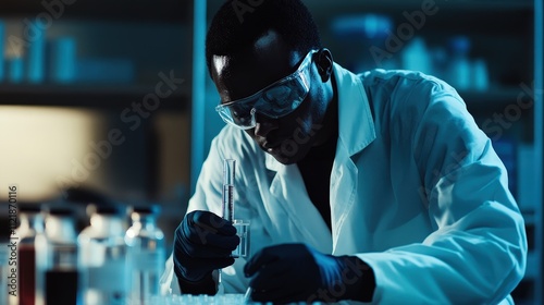
<path fill-rule="evenodd" d="M 375 139 L 375 129 L 370 105 L 360 78 L 335 64 L 335 80 L 338 88 L 338 142 L 331 173 L 331 216 L 333 253 L 347 253 L 353 239 L 353 227 L 347 216 L 358 199 L 357 185 L 359 170 L 354 156 L 361 152 Z M 360 203 L 368 204 L 368 203 Z"/>

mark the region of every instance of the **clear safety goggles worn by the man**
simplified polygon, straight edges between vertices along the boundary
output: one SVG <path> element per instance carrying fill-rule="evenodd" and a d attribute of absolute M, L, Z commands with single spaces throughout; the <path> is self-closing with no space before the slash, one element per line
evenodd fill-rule
<path fill-rule="evenodd" d="M 280 119 L 295 111 L 310 90 L 311 50 L 298 66 L 297 71 L 272 83 L 258 93 L 242 99 L 225 102 L 215 107 L 219 115 L 228 124 L 242 130 L 256 126 L 255 113 L 259 112 L 272 119 Z"/>

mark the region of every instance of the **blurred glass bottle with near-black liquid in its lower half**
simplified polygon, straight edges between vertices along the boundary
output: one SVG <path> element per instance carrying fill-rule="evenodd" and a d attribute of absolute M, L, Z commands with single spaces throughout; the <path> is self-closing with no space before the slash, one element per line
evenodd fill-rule
<path fill-rule="evenodd" d="M 36 236 L 36 304 L 81 304 L 74 210 L 47 208 L 45 234 Z"/>

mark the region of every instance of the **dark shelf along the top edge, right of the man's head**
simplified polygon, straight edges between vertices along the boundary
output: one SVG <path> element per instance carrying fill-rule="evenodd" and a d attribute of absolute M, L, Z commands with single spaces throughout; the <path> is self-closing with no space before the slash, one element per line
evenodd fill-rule
<path fill-rule="evenodd" d="M 425 4 L 423 4 L 425 3 Z M 429 4 L 429 3 L 434 3 Z M 524 37 L 532 29 L 533 1 L 459 1 L 459 0 L 370 0 L 354 3 L 349 0 L 335 1 L 334 5 L 322 5 L 308 1 L 308 8 L 322 32 L 337 17 L 357 15 L 385 15 L 395 25 L 392 33 L 411 28 L 416 35 L 436 35 L 448 33 L 493 34 Z M 462 22 L 460 22 L 462 16 Z M 417 27 L 409 27 L 417 23 Z M 455 26 L 452 26 L 452 25 Z M 411 34 L 408 34 L 411 35 Z M 447 36 L 447 35 L 446 35 Z M 532 38 L 532 36 L 531 36 Z"/>

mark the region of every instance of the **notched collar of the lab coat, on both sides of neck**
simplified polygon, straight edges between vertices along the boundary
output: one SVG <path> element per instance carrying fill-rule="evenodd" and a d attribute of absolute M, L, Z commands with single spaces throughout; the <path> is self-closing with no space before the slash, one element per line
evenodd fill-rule
<path fill-rule="evenodd" d="M 337 63 L 334 63 L 334 76 L 338 95 L 338 141 L 351 157 L 376 137 L 374 121 L 359 76 Z M 270 154 L 264 154 L 264 158 L 271 171 L 277 172 L 284 167 Z"/>

